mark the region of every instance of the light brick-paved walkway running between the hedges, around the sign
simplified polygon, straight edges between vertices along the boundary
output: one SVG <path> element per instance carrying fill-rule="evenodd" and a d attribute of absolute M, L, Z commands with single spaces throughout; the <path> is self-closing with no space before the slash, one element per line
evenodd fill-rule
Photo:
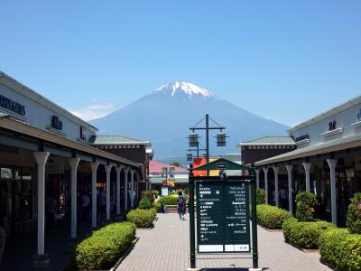
<path fill-rule="evenodd" d="M 177 214 L 158 214 L 158 217 L 153 229 L 137 230 L 140 239 L 117 271 L 184 271 L 190 266 L 189 220 L 181 221 Z M 319 262 L 318 253 L 303 253 L 286 244 L 282 232 L 268 232 L 258 228 L 258 244 L 259 266 L 265 270 L 331 270 Z M 197 267 L 202 267 L 202 270 L 247 270 L 244 268 L 252 266 L 252 259 L 235 258 L 235 255 L 197 257 L 208 257 L 197 259 Z"/>

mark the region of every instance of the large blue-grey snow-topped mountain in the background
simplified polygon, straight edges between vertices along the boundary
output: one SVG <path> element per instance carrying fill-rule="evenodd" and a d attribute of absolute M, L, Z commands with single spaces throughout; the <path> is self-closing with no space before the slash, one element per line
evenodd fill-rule
<path fill-rule="evenodd" d="M 90 123 L 99 128 L 99 134 L 120 134 L 149 140 L 154 159 L 162 162 L 185 162 L 190 126 L 206 114 L 226 127 L 227 146 L 217 147 L 216 131 L 210 132 L 210 155 L 239 153 L 236 144 L 264 135 L 286 135 L 288 126 L 259 117 L 236 105 L 218 98 L 207 89 L 174 81 L 155 89 L 106 117 Z M 204 123 L 201 124 L 204 126 Z M 200 144 L 204 132 L 199 131 Z M 204 145 L 204 144 L 203 144 Z"/>

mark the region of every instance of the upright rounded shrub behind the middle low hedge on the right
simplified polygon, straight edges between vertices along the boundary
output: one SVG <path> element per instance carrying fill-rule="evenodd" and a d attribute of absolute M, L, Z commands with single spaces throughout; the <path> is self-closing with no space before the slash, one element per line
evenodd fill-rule
<path fill-rule="evenodd" d="M 296 195 L 296 218 L 299 221 L 314 221 L 313 213 L 317 205 L 318 201 L 313 193 L 298 193 Z"/>

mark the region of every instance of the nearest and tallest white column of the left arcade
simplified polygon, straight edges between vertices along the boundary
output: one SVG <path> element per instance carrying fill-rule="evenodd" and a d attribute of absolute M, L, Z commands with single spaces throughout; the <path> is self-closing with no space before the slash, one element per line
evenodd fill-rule
<path fill-rule="evenodd" d="M 45 232 L 45 164 L 49 152 L 35 152 L 36 164 L 38 164 L 38 254 L 44 254 Z"/>

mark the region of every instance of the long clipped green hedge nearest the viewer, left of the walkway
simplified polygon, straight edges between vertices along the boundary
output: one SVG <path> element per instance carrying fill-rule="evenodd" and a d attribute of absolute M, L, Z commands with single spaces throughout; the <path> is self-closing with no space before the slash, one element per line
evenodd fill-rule
<path fill-rule="evenodd" d="M 86 270 L 109 269 L 129 248 L 134 238 L 133 223 L 113 223 L 98 229 L 75 248 L 75 266 Z"/>

